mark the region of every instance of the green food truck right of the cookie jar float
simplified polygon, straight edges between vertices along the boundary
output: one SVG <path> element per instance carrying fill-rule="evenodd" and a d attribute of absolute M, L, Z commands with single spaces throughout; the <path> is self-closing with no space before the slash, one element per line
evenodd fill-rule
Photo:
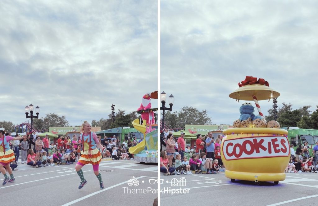
<path fill-rule="evenodd" d="M 318 141 L 318 130 L 317 129 L 300 129 L 298 127 L 282 127 L 288 131 L 288 141 L 294 145 L 296 150 L 298 144 L 304 144 L 308 142 L 309 155 L 312 156 L 312 148 L 315 147 Z M 298 142 L 298 144 L 296 144 Z"/>

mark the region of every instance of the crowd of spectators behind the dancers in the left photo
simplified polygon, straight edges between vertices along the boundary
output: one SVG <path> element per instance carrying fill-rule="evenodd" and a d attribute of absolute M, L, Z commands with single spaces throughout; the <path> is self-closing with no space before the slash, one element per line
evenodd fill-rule
<path fill-rule="evenodd" d="M 10 164 L 10 167 L 12 170 L 18 170 L 17 163 L 26 163 L 33 168 L 55 166 L 54 163 L 57 165 L 76 163 L 81 155 L 81 141 L 76 135 L 73 136 L 72 140 L 70 136 L 65 136 L 64 140 L 62 140 L 62 137 L 63 136 L 59 135 L 55 147 L 52 147 L 52 144 L 48 145 L 48 142 L 44 143 L 44 139 L 47 138 L 47 136 L 43 138 L 43 141 L 39 136 L 35 136 L 32 141 L 30 140 L 30 135 L 27 135 L 21 142 L 10 142 L 10 147 L 14 150 L 16 156 L 15 162 L 11 162 L 12 164 Z M 112 140 L 106 139 L 107 138 L 100 140 L 99 138 L 100 142 L 103 144 L 103 148 L 99 148 L 103 159 L 106 159 L 107 157 L 112 158 L 113 160 L 133 159 L 133 154 L 129 154 L 128 148 L 138 144 L 136 138 L 133 141 L 130 141 L 130 138 L 128 137 L 128 141 L 125 140 L 122 143 L 115 135 Z M 29 147 L 29 144 L 33 144 L 34 148 L 32 149 L 31 146 Z M 45 144 L 48 146 L 46 145 L 45 147 Z M 55 152 L 51 153 L 48 149 L 54 149 Z M 18 159 L 20 151 L 22 153 L 21 162 Z"/>

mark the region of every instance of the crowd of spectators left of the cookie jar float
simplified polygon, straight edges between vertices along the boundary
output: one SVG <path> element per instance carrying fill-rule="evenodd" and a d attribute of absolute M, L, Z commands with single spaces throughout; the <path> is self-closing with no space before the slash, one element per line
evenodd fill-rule
<path fill-rule="evenodd" d="M 203 140 L 204 137 L 207 138 Z M 165 131 L 161 135 L 160 171 L 164 175 L 190 175 L 194 174 L 216 174 L 224 171 L 220 155 L 222 137 L 218 137 L 216 143 L 212 133 L 197 135 L 197 147 L 191 154 L 191 150 L 185 147 L 184 133 L 175 140 L 172 132 Z M 204 147 L 206 145 L 206 147 Z M 191 155 L 190 155 L 191 154 Z M 189 160 L 188 157 L 189 156 Z M 173 159 L 175 163 L 173 164 Z M 176 171 L 176 172 L 175 172 Z M 191 172 L 192 171 L 192 172 Z"/>

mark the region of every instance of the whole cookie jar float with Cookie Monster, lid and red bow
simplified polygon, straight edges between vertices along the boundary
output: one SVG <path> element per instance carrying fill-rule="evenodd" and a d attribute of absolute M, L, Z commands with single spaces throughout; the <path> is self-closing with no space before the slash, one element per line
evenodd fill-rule
<path fill-rule="evenodd" d="M 267 122 L 258 100 L 270 100 L 280 93 L 269 87 L 264 79 L 247 76 L 230 98 L 254 101 L 259 115 L 254 115 L 251 103 L 240 108 L 240 118 L 233 127 L 223 131 L 221 158 L 226 168 L 225 176 L 237 180 L 274 182 L 285 180 L 285 168 L 290 159 L 288 132 L 280 129 L 277 121 Z"/>

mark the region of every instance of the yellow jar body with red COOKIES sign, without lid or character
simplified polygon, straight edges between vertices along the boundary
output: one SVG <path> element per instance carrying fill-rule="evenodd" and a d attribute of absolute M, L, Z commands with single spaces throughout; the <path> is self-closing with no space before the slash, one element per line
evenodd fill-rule
<path fill-rule="evenodd" d="M 285 180 L 290 160 L 288 132 L 276 128 L 229 128 L 221 144 L 225 176 L 255 182 Z"/>

